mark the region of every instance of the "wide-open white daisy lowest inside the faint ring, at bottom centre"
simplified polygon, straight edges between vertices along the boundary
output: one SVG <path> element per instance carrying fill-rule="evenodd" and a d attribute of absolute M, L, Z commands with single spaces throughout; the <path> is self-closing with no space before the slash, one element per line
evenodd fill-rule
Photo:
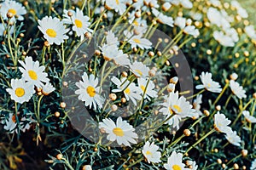
<path fill-rule="evenodd" d="M 120 116 L 116 123 L 109 118 L 103 119 L 99 123 L 99 128 L 103 128 L 108 133 L 108 140 L 112 142 L 116 140 L 119 145 L 131 146 L 131 144 L 137 144 L 135 139 L 138 139 L 138 136 L 137 133 L 134 133 L 135 129 L 128 122 L 123 121 Z"/>

